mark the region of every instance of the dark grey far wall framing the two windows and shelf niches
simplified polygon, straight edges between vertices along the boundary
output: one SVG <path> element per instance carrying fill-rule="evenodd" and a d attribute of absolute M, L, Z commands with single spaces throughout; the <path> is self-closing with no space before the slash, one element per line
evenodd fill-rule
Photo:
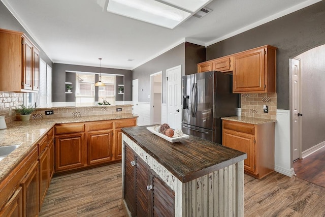
<path fill-rule="evenodd" d="M 53 64 L 52 102 L 66 102 L 66 71 L 99 72 L 99 67 Z M 102 74 L 124 75 L 124 101 L 132 101 L 132 71 L 124 69 L 101 68 Z"/>

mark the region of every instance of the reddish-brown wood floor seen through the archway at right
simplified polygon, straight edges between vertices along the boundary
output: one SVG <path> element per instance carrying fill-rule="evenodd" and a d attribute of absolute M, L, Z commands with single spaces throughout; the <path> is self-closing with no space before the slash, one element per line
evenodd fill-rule
<path fill-rule="evenodd" d="M 325 187 L 325 147 L 294 162 L 297 177 Z"/>

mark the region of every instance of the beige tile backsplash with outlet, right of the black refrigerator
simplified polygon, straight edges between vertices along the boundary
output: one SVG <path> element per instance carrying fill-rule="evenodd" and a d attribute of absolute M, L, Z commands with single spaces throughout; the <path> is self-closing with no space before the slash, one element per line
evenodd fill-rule
<path fill-rule="evenodd" d="M 268 94 L 241 94 L 241 116 L 276 120 L 276 100 L 276 92 Z M 269 113 L 264 113 L 263 105 L 269 107 Z"/>

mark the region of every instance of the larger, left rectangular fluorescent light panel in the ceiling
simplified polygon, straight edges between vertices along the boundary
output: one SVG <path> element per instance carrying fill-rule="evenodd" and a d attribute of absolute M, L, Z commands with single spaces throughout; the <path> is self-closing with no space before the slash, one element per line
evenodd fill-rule
<path fill-rule="evenodd" d="M 152 0 L 109 0 L 108 12 L 166 28 L 174 28 L 191 14 Z"/>

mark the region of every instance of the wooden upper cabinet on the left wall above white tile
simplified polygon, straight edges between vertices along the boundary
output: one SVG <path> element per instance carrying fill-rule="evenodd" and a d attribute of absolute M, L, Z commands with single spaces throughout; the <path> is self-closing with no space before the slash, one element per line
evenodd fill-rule
<path fill-rule="evenodd" d="M 21 32 L 0 29 L 0 91 L 39 90 L 39 50 Z"/>

